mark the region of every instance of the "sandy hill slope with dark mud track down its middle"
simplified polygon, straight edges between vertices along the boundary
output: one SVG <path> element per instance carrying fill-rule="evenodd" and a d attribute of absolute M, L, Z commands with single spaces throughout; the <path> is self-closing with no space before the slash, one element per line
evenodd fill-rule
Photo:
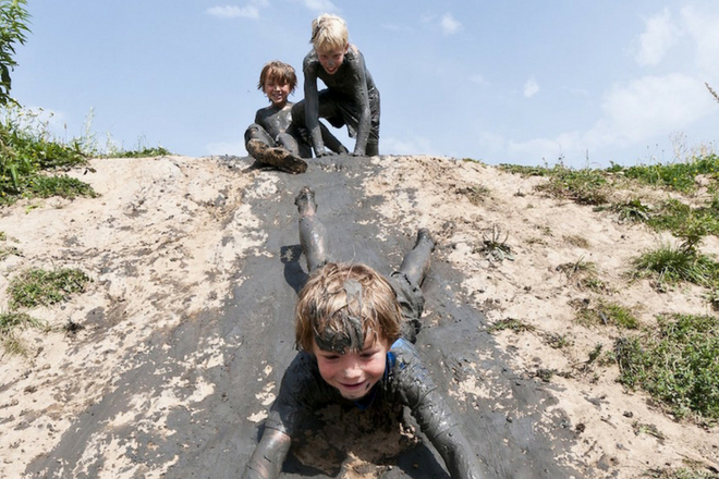
<path fill-rule="evenodd" d="M 705 291 L 627 281 L 632 258 L 670 237 L 548 197 L 535 189 L 545 179 L 432 157 L 322 159 L 294 176 L 248 158 L 98 159 L 71 174 L 101 196 L 0 209 L 3 246 L 16 248 L 0 260 L 0 308 L 31 267 L 93 279 L 29 311 L 52 330 L 23 332 L 28 357 L 0 358 L 0 477 L 239 477 L 294 355 L 305 265 L 293 198 L 305 184 L 338 259 L 389 272 L 417 228 L 435 234 L 417 344 L 487 477 L 719 468 L 716 429 L 674 420 L 624 391 L 616 366 L 589 361 L 623 332 L 576 321 L 599 296 L 648 326 L 707 314 Z M 509 254 L 483 253 L 492 237 Z M 566 267 L 577 261 L 595 265 L 601 295 Z M 508 319 L 525 328 L 490 331 Z M 336 427 L 297 444 L 283 477 L 447 477 L 412 427 L 326 415 Z"/>

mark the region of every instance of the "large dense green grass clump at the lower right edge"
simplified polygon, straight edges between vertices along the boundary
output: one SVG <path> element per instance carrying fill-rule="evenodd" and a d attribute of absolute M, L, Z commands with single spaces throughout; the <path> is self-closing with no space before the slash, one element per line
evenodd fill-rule
<path fill-rule="evenodd" d="M 674 415 L 719 419 L 719 319 L 659 317 L 658 328 L 614 344 L 619 381 L 641 388 Z"/>

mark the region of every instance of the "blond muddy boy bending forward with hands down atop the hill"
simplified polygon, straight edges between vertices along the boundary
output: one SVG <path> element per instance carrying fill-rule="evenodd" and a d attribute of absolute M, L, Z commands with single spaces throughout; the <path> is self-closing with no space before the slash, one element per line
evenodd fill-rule
<path fill-rule="evenodd" d="M 292 116 L 309 131 L 315 156 L 329 155 L 320 118 L 338 128 L 348 125 L 350 136 L 356 137 L 353 155 L 379 155 L 379 91 L 364 56 L 349 42 L 346 24 L 336 15 L 318 16 L 312 23 L 310 42 L 314 48 L 302 66 L 305 99 L 292 107 Z M 326 89 L 317 90 L 317 78 Z"/>

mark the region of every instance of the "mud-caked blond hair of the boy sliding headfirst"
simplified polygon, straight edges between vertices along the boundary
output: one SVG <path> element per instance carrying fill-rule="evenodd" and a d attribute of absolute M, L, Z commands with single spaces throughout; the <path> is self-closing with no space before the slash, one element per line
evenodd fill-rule
<path fill-rule="evenodd" d="M 402 314 L 389 282 L 365 265 L 327 263 L 315 271 L 300 292 L 295 308 L 295 344 L 312 352 L 343 354 L 362 351 L 365 341 L 393 343 Z"/>

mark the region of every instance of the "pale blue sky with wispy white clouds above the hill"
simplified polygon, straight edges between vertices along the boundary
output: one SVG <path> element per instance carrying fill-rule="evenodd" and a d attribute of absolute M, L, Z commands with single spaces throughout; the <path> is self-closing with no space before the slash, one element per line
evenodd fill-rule
<path fill-rule="evenodd" d="M 245 155 L 269 60 L 348 22 L 381 94 L 380 152 L 605 168 L 716 150 L 719 2 L 31 0 L 12 96 L 61 138 Z M 321 85 L 320 85 L 321 86 Z M 337 132 L 336 130 L 333 130 Z M 354 142 L 338 134 L 352 149 Z"/>

